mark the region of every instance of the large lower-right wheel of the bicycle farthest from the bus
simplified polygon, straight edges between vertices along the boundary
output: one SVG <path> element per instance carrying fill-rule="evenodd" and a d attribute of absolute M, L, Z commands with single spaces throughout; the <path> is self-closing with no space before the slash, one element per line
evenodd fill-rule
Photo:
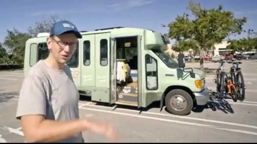
<path fill-rule="evenodd" d="M 240 82 L 241 81 L 241 82 Z M 244 101 L 245 99 L 245 81 L 244 81 L 244 77 L 241 71 L 238 71 L 236 74 L 236 89 L 237 89 L 237 93 L 238 93 L 238 100 L 239 101 Z M 240 88 L 242 90 L 242 93 L 240 91 Z"/>

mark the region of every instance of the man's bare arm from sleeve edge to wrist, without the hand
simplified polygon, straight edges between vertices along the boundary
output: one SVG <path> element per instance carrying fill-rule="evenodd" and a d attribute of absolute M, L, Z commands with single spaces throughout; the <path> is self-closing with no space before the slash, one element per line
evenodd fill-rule
<path fill-rule="evenodd" d="M 21 117 L 21 127 L 28 143 L 56 142 L 90 130 L 86 120 L 57 122 L 46 120 L 42 115 L 25 115 Z"/>

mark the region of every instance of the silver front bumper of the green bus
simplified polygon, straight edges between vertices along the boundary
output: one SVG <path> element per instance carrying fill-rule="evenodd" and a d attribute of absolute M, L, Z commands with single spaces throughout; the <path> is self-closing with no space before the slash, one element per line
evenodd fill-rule
<path fill-rule="evenodd" d="M 197 105 L 206 105 L 210 98 L 210 90 L 205 86 L 201 92 L 194 92 Z"/>

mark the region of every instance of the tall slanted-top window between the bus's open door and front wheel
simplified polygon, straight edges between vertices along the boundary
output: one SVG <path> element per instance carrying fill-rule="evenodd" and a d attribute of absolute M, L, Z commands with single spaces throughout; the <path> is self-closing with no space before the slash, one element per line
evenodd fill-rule
<path fill-rule="evenodd" d="M 157 72 L 157 60 L 150 56 L 145 55 L 145 74 L 146 74 L 146 89 L 157 90 L 158 89 L 158 72 Z"/>

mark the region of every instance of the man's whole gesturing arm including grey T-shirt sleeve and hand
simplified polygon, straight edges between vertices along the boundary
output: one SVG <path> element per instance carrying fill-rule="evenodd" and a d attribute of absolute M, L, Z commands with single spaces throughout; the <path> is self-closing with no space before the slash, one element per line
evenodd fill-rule
<path fill-rule="evenodd" d="M 79 132 L 90 130 L 113 138 L 112 128 L 106 124 L 75 120 L 57 122 L 46 120 L 46 95 L 40 76 L 25 77 L 20 91 L 16 118 L 21 119 L 21 127 L 27 142 L 56 142 L 72 137 Z"/>

